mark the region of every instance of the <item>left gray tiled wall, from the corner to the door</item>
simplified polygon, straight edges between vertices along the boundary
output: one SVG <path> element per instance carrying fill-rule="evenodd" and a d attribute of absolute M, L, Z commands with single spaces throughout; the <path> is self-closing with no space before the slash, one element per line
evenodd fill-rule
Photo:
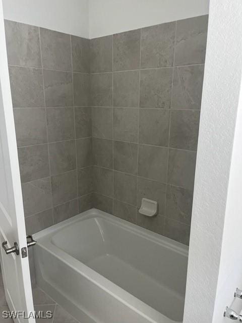
<path fill-rule="evenodd" d="M 92 181 L 86 184 L 92 175 L 90 41 L 8 20 L 5 28 L 26 228 L 32 234 L 92 206 Z"/>

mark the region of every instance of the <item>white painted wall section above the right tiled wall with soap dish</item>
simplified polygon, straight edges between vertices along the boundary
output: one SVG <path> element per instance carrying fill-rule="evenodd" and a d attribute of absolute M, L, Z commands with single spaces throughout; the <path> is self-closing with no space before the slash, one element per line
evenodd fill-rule
<path fill-rule="evenodd" d="M 208 14 L 209 0 L 89 0 L 90 38 Z"/>

